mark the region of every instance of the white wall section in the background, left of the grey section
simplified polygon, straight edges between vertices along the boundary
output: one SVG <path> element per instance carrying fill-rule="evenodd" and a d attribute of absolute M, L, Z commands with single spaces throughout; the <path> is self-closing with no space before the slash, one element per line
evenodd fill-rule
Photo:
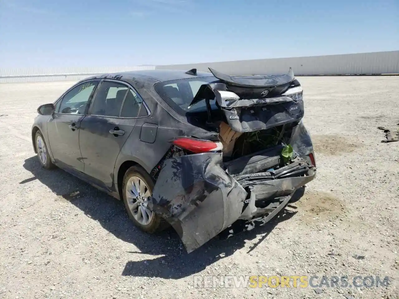
<path fill-rule="evenodd" d="M 154 65 L 133 67 L 47 67 L 0 69 L 0 83 L 79 81 L 104 73 L 155 69 Z"/>

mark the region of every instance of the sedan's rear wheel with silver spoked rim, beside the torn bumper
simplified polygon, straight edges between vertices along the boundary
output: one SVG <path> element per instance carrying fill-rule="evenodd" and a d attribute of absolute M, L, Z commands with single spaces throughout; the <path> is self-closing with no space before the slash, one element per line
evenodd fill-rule
<path fill-rule="evenodd" d="M 139 193 L 138 196 L 136 196 L 134 192 L 136 191 L 134 185 L 137 182 L 139 182 L 139 190 L 137 190 Z M 140 182 L 145 184 L 143 189 L 141 189 L 142 184 Z M 146 206 L 146 202 L 148 203 L 148 200 L 146 201 L 146 199 L 152 195 L 153 189 L 154 181 L 151 179 L 150 175 L 148 175 L 148 173 L 140 166 L 132 166 L 124 174 L 122 195 L 126 212 L 129 215 L 129 218 L 133 221 L 134 225 L 144 232 L 148 232 L 150 234 L 160 232 L 167 226 L 166 222 L 160 215 L 152 212 Z M 138 207 L 136 208 L 137 205 Z M 148 211 L 152 213 L 151 216 Z M 147 222 L 145 216 L 148 217 Z"/>

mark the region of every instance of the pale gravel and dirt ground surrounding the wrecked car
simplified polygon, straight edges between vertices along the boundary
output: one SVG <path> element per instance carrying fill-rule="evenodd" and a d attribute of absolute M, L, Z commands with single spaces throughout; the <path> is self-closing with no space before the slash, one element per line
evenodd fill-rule
<path fill-rule="evenodd" d="M 0 84 L 0 298 L 398 298 L 399 142 L 380 143 L 377 126 L 399 122 L 399 77 L 300 81 L 318 176 L 273 222 L 191 254 L 173 230 L 144 234 L 121 202 L 41 169 L 30 137 L 36 108 L 73 82 Z M 198 287 L 220 275 L 392 281 L 388 289 L 324 284 L 321 293 Z"/>

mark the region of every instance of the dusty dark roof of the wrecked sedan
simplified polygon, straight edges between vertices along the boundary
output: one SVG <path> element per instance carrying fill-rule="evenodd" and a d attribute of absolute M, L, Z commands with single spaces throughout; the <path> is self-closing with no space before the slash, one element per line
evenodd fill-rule
<path fill-rule="evenodd" d="M 153 79 L 156 81 L 171 81 L 186 78 L 198 77 L 213 77 L 211 72 L 197 72 L 197 75 L 187 74 L 188 70 L 174 70 L 174 69 L 154 69 L 154 70 L 140 70 L 140 71 L 127 71 L 120 73 L 104 74 L 95 76 L 96 78 L 117 78 L 124 80 L 132 80 L 134 78 Z M 91 79 L 93 79 L 92 77 Z"/>

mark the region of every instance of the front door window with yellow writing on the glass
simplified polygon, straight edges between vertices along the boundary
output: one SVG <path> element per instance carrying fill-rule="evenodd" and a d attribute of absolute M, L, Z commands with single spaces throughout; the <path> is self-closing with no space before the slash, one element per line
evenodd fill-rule
<path fill-rule="evenodd" d="M 69 90 L 62 98 L 61 103 L 57 103 L 60 113 L 84 114 L 90 96 L 93 94 L 98 81 L 89 81 L 75 86 Z"/>

